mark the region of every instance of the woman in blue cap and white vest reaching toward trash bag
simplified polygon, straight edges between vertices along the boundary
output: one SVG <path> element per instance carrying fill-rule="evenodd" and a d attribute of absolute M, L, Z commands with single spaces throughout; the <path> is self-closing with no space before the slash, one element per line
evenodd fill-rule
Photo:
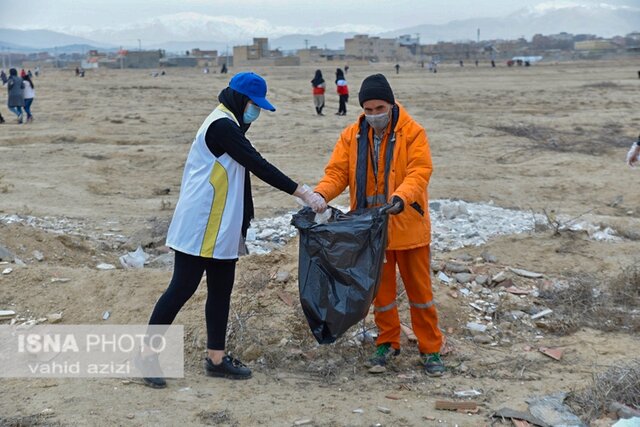
<path fill-rule="evenodd" d="M 245 137 L 262 109 L 275 111 L 266 94 L 262 77 L 250 72 L 236 74 L 229 87 L 220 92 L 220 105 L 196 133 L 167 235 L 167 246 L 175 251 L 173 277 L 149 320 L 150 325 L 171 324 L 206 271 L 208 354 L 204 367 L 209 376 L 251 377 L 247 366 L 225 353 L 236 261 L 246 253 L 244 238 L 254 215 L 249 172 L 300 197 L 315 211 L 326 209 L 322 197 L 270 164 Z M 140 365 L 145 375 L 144 367 L 154 363 L 154 355 L 145 349 L 139 360 L 143 361 Z M 166 386 L 162 377 L 147 376 L 144 380 L 151 387 Z"/>

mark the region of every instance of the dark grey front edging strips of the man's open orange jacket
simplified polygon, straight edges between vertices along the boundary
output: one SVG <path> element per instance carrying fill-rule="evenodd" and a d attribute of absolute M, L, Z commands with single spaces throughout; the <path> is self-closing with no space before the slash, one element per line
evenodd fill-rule
<path fill-rule="evenodd" d="M 391 109 L 391 131 L 387 141 L 387 149 L 384 157 L 384 195 L 387 197 L 389 190 L 389 171 L 393 160 L 393 148 L 396 142 L 395 128 L 398 123 L 398 106 Z M 358 157 L 356 161 L 356 209 L 367 207 L 367 172 L 369 162 L 369 123 L 363 117 L 360 119 L 360 132 L 358 139 Z M 372 165 L 373 167 L 373 165 Z M 376 177 L 377 181 L 377 177 Z M 377 191 L 377 186 L 376 186 Z"/>

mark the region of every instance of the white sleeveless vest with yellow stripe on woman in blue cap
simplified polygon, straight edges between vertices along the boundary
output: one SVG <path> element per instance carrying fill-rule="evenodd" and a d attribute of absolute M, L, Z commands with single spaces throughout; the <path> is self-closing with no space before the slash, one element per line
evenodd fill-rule
<path fill-rule="evenodd" d="M 213 155 L 205 135 L 216 120 L 238 121 L 224 105 L 205 119 L 191 144 L 167 246 L 190 255 L 238 258 L 242 237 L 245 168 L 224 153 Z"/>

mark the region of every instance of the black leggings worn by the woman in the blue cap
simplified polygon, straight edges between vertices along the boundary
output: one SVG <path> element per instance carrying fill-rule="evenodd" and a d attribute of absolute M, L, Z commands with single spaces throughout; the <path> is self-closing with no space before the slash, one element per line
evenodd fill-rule
<path fill-rule="evenodd" d="M 207 272 L 207 348 L 224 350 L 229 318 L 231 290 L 237 260 L 217 260 L 176 252 L 173 277 L 169 287 L 156 303 L 150 325 L 170 325 L 182 306 L 198 289 L 202 274 Z"/>

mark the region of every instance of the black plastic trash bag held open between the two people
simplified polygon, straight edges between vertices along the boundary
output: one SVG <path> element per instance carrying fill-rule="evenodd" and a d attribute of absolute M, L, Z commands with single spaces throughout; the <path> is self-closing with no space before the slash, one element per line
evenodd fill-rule
<path fill-rule="evenodd" d="M 310 208 L 291 219 L 300 232 L 300 302 L 320 344 L 331 344 L 366 317 L 378 292 L 387 247 L 384 209 L 347 214 L 330 209 L 326 224 L 316 224 Z"/>

